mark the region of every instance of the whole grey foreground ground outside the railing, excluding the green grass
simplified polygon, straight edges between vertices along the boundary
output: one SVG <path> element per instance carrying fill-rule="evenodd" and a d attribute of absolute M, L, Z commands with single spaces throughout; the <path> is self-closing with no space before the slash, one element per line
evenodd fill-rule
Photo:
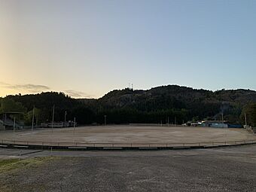
<path fill-rule="evenodd" d="M 32 153 L 34 152 L 34 153 Z M 2 157 L 20 151 L 1 149 Z M 22 151 L 23 158 L 50 151 Z M 53 151 L 0 175 L 11 191 L 255 191 L 256 145 L 183 151 Z M 1 186 L 1 185 L 0 185 Z"/>

